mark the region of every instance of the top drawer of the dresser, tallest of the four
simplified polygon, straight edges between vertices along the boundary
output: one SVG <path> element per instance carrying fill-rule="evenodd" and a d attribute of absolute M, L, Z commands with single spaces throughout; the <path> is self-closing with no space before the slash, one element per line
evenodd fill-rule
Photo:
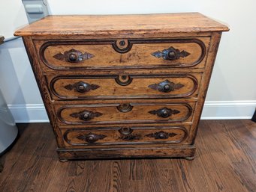
<path fill-rule="evenodd" d="M 197 67 L 209 37 L 155 40 L 35 40 L 45 70 Z"/>

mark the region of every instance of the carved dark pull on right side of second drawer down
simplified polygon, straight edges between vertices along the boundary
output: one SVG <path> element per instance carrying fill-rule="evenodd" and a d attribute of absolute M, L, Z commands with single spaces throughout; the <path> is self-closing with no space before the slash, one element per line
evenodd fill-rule
<path fill-rule="evenodd" d="M 150 84 L 149 88 L 153 90 L 159 90 L 164 93 L 169 93 L 173 90 L 179 90 L 180 88 L 184 87 L 184 84 L 175 84 L 169 80 L 162 81 L 158 84 Z"/>

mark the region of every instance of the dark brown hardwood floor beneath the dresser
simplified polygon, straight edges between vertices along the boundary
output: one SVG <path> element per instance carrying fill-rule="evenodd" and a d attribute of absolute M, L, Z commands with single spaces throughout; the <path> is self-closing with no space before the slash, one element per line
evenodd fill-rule
<path fill-rule="evenodd" d="M 20 139 L 2 156 L 0 191 L 256 191 L 256 123 L 202 120 L 194 161 L 58 160 L 48 123 L 20 124 Z"/>

